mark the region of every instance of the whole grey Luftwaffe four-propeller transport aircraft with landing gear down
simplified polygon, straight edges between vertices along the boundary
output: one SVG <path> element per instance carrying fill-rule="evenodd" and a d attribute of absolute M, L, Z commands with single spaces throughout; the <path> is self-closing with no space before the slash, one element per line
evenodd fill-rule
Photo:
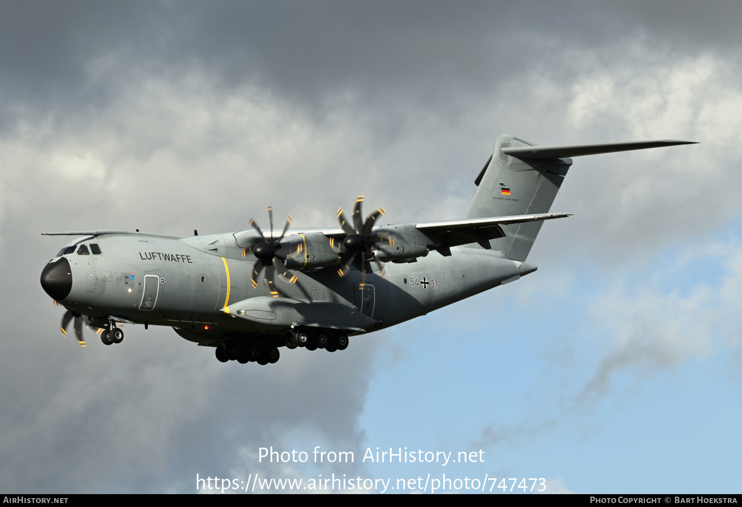
<path fill-rule="evenodd" d="M 214 347 L 217 359 L 261 365 L 279 348 L 343 350 L 348 337 L 388 328 L 536 271 L 525 262 L 572 164 L 569 157 L 688 145 L 661 140 L 538 146 L 502 135 L 476 177 L 463 219 L 376 225 L 358 197 L 338 228 L 282 231 L 254 220 L 245 231 L 179 237 L 139 231 L 78 236 L 42 271 L 67 308 L 62 334 L 97 329 L 121 342 L 120 323 L 171 326 Z"/>

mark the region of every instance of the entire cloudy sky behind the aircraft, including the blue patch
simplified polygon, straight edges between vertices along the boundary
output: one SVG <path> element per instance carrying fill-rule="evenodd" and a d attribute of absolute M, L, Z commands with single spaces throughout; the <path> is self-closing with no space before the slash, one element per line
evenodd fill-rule
<path fill-rule="evenodd" d="M 0 488 L 195 491 L 257 449 L 483 449 L 549 491 L 739 491 L 742 6 L 731 1 L 0 4 Z M 574 159 L 517 283 L 221 364 L 169 328 L 59 334 L 43 231 L 185 235 L 266 205 L 464 215 L 499 133 L 700 145 Z M 360 456 L 358 456 L 360 457 Z M 357 459 L 358 461 L 358 459 Z M 289 466 L 291 465 L 291 466 Z M 458 476 L 456 476 L 458 477 Z"/>

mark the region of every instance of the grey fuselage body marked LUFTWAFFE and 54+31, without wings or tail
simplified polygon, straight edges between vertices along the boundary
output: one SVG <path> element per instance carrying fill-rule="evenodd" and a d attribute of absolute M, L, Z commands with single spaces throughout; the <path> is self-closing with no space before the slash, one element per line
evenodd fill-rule
<path fill-rule="evenodd" d="M 204 345 L 223 342 L 226 337 L 290 333 L 286 326 L 250 322 L 225 313 L 225 308 L 237 302 L 269 296 L 262 279 L 257 287 L 251 284 L 257 259 L 237 247 L 232 234 L 180 239 L 87 236 L 70 242 L 70 253 L 64 251 L 50 260 L 45 273 L 56 263 L 68 262 L 71 286 L 59 302 L 79 314 L 166 325 L 181 337 Z M 337 303 L 370 317 L 374 324 L 355 331 L 359 334 L 427 314 L 536 270 L 534 265 L 477 245 L 455 247 L 451 252 L 451 256 L 431 252 L 404 264 L 387 262 L 384 278 L 374 267 L 362 291 L 359 271 L 354 269 L 341 277 L 333 266 L 295 271 L 295 283 L 277 281 L 275 285 L 281 298 Z M 44 275 L 45 285 L 43 280 Z"/>

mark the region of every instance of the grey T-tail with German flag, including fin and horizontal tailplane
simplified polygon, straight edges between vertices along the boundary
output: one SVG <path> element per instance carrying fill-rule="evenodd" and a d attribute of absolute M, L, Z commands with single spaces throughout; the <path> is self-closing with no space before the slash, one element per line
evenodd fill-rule
<path fill-rule="evenodd" d="M 572 165 L 568 157 L 690 145 L 689 141 L 608 142 L 591 145 L 538 146 L 503 134 L 475 180 L 478 186 L 465 219 L 548 213 Z M 492 248 L 510 259 L 525 261 L 543 222 L 502 225 L 505 237 L 491 239 Z"/>

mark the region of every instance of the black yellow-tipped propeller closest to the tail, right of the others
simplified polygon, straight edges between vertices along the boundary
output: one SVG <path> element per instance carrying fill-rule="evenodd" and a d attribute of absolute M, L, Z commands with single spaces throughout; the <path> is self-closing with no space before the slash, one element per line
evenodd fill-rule
<path fill-rule="evenodd" d="M 378 265 L 378 268 L 381 271 L 379 273 L 381 278 L 384 278 L 384 275 L 386 274 L 384 271 L 384 265 L 375 259 L 371 251 L 371 246 L 375 242 L 378 242 L 379 240 L 384 241 L 383 236 L 372 234 L 371 230 L 376 219 L 386 213 L 386 210 L 384 210 L 384 208 L 377 208 L 367 216 L 366 222 L 364 222 L 361 218 L 361 202 L 364 202 L 364 196 L 358 196 L 358 199 L 355 199 L 355 205 L 353 205 L 353 225 L 350 225 L 348 220 L 345 218 L 343 208 L 338 209 L 338 223 L 347 236 L 345 236 L 345 239 L 343 239 L 342 242 L 335 242 L 335 240 L 332 239 L 330 246 L 335 252 L 343 253 L 343 251 L 345 251 L 346 253 L 351 253 L 348 261 L 338 269 L 338 274 L 340 276 L 347 276 L 347 274 L 350 273 L 350 268 L 355 266 L 358 271 L 361 271 L 361 284 L 359 285 L 359 288 L 363 291 L 364 285 L 366 285 L 366 274 L 367 272 L 372 271 L 370 261 L 374 260 Z"/>

